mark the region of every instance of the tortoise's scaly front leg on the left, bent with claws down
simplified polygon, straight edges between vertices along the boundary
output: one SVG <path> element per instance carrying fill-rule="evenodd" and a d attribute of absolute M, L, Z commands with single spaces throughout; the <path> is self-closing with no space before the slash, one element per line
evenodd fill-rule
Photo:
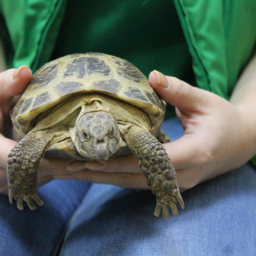
<path fill-rule="evenodd" d="M 37 194 L 37 169 L 39 160 L 44 156 L 52 138 L 53 136 L 45 131 L 30 132 L 14 146 L 8 155 L 9 201 L 12 203 L 14 198 L 20 210 L 23 210 L 23 200 L 31 210 L 36 208 L 32 199 L 39 205 L 43 204 Z"/>

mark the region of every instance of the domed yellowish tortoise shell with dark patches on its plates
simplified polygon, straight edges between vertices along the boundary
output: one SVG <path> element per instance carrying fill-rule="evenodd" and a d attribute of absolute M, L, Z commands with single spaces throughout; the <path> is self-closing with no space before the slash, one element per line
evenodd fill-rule
<path fill-rule="evenodd" d="M 94 92 L 141 108 L 152 133 L 159 132 L 165 105 L 147 78 L 130 62 L 102 53 L 71 54 L 39 68 L 11 112 L 14 129 L 24 137 L 40 113 L 74 94 Z"/>

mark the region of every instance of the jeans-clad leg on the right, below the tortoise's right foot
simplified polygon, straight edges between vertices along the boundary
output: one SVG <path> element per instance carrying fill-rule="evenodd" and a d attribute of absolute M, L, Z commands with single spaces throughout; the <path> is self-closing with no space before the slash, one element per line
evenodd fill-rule
<path fill-rule="evenodd" d="M 182 194 L 185 210 L 153 216 L 149 191 L 93 184 L 61 255 L 256 255 L 256 173 L 246 164 Z"/>

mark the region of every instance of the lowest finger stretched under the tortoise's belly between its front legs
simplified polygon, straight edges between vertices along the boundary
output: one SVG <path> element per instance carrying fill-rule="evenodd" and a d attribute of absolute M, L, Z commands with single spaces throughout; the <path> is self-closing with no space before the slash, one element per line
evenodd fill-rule
<path fill-rule="evenodd" d="M 56 179 L 76 179 L 100 184 L 111 184 L 125 188 L 150 189 L 147 185 L 146 178 L 140 173 L 123 173 L 123 172 L 101 172 L 82 170 L 72 172 L 66 175 L 54 176 Z"/>

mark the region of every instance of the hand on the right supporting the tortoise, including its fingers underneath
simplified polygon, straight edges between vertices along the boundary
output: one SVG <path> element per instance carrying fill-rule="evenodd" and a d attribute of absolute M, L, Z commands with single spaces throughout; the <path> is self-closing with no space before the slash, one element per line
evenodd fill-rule
<path fill-rule="evenodd" d="M 162 99 L 176 107 L 184 128 L 180 139 L 164 144 L 181 191 L 243 165 L 256 153 L 249 108 L 159 72 L 151 72 L 149 82 Z M 69 173 L 55 178 L 149 189 L 132 155 L 99 162 L 74 161 L 67 168 Z"/>

